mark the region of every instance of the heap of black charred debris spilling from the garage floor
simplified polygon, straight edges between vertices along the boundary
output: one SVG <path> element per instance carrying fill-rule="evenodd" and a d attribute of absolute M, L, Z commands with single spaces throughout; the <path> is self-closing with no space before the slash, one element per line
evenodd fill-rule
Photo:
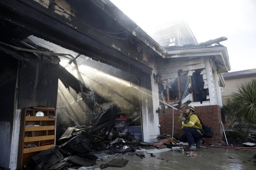
<path fill-rule="evenodd" d="M 111 159 L 107 164 L 101 164 L 100 168 L 93 165 L 97 165 L 97 160 L 111 158 L 118 154 L 127 154 L 143 159 L 145 155 L 138 154 L 136 151 L 152 151 L 163 147 L 168 149 L 180 146 L 176 144 L 175 139 L 171 139 L 169 135 L 165 134 L 159 135 L 158 139 L 160 140 L 158 142 L 142 142 L 141 136 L 130 133 L 128 130 L 129 125 L 140 116 L 127 123 L 122 121 L 126 117 L 117 117 L 118 109 L 118 105 L 113 104 L 108 109 L 103 110 L 92 126 L 68 127 L 55 147 L 33 156 L 33 163 L 24 169 L 100 170 L 107 167 L 124 167 L 129 160 Z M 116 122 L 116 120 L 121 121 Z M 130 129 L 130 131 L 133 130 Z M 183 151 L 182 147 L 179 148 L 180 150 L 176 149 L 175 151 Z M 151 157 L 155 157 L 153 153 L 150 153 Z"/>

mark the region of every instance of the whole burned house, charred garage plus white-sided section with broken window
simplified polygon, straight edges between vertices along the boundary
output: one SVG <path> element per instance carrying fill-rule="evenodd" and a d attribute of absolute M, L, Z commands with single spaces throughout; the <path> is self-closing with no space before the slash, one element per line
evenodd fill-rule
<path fill-rule="evenodd" d="M 138 138 L 152 142 L 176 118 L 159 99 L 177 107 L 190 100 L 202 118 L 214 117 L 214 142 L 221 140 L 219 87 L 230 66 L 226 47 L 211 45 L 223 39 L 164 48 L 108 0 L 15 0 L 0 8 L 1 167 L 17 167 L 22 110 L 30 107 L 56 108 L 55 139 L 117 103 L 119 117 L 137 118 Z"/>

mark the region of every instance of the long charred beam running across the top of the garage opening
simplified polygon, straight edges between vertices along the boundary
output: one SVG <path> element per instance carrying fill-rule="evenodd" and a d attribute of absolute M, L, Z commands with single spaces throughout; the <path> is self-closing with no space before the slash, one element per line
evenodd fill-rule
<path fill-rule="evenodd" d="M 126 49 L 126 40 L 116 40 L 105 34 L 96 33 L 94 29 L 83 25 L 80 21 L 75 19 L 68 20 L 52 12 L 52 9 L 44 8 L 35 1 L 10 2 L 3 0 L 0 4 L 0 10 L 2 11 L 0 14 L 2 20 L 28 30 L 47 41 L 121 70 L 127 71 L 127 64 L 130 63 L 131 71 L 137 74 L 152 73 L 151 67 L 135 58 L 130 57 L 130 61 L 128 61 L 127 52 L 118 50 L 110 44 L 110 42 L 115 42 L 115 44 L 122 46 L 122 49 Z M 100 9 L 97 12 L 100 12 Z M 79 26 L 79 28 L 76 26 Z M 107 38 L 102 38 L 104 36 Z M 130 56 L 136 55 L 138 54 L 130 54 Z"/>

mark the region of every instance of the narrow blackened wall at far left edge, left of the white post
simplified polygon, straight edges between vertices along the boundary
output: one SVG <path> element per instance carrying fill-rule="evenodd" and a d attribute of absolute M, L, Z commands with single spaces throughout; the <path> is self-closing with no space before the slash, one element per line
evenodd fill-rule
<path fill-rule="evenodd" d="M 0 56 L 0 166 L 9 168 L 18 61 L 3 52 Z"/>

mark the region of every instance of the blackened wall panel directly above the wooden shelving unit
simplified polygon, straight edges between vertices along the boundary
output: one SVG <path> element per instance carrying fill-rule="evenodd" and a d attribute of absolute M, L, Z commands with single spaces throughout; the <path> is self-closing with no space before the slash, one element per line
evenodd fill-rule
<path fill-rule="evenodd" d="M 19 79 L 18 109 L 30 106 L 56 107 L 59 58 L 41 55 L 22 63 Z"/>

